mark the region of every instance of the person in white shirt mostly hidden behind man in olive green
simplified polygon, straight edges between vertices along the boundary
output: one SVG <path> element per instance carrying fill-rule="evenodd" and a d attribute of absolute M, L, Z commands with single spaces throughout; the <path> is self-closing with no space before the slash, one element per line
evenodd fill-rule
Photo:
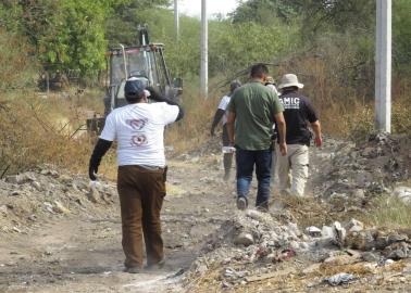
<path fill-rule="evenodd" d="M 228 132 L 227 132 L 227 105 L 229 104 L 229 101 L 232 99 L 233 92 L 241 87 L 241 82 L 238 80 L 233 80 L 229 85 L 229 93 L 224 95 L 223 99 L 221 99 L 219 107 L 214 114 L 213 124 L 211 125 L 211 136 L 214 136 L 215 127 L 220 123 L 220 120 L 223 118 L 223 146 L 229 146 L 229 140 L 228 140 Z M 224 154 L 224 180 L 229 179 L 229 174 L 232 169 L 232 162 L 233 162 L 233 153 L 225 153 Z"/>

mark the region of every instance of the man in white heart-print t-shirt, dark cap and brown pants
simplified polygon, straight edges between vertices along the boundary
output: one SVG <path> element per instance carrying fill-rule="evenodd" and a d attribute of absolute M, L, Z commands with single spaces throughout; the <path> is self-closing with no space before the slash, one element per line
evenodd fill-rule
<path fill-rule="evenodd" d="M 130 78 L 124 87 L 128 105 L 115 109 L 92 152 L 89 177 L 96 174 L 102 156 L 117 141 L 117 190 L 123 227 L 125 271 L 136 273 L 142 268 L 142 235 L 147 267 L 164 264 L 160 211 L 165 196 L 166 165 L 164 126 L 184 116 L 179 105 Z M 158 103 L 148 103 L 148 97 Z"/>

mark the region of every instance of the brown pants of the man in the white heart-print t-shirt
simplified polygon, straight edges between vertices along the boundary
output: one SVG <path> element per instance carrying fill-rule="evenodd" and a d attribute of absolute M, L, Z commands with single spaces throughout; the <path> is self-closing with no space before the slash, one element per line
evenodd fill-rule
<path fill-rule="evenodd" d="M 139 166 L 120 166 L 117 175 L 123 251 L 126 267 L 142 267 L 142 234 L 147 265 L 159 263 L 163 254 L 160 211 L 165 196 L 164 170 Z"/>

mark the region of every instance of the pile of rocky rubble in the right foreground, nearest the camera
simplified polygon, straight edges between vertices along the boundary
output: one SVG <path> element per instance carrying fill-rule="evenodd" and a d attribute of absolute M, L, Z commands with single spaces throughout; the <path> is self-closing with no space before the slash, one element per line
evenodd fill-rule
<path fill-rule="evenodd" d="M 307 265 L 301 273 L 325 266 L 354 262 L 374 262 L 375 266 L 411 257 L 411 234 L 404 230 L 365 229 L 361 221 L 335 221 L 321 229 L 314 226 L 301 231 L 295 222 L 282 224 L 275 215 L 249 209 L 236 212 L 213 233 L 186 275 L 186 285 L 210 269 L 219 270 L 215 280 L 222 288 L 246 284 L 262 278 L 279 276 L 287 263 Z M 291 260 L 291 262 L 287 262 Z M 333 276 L 329 276 L 329 278 Z M 337 278 L 338 277 L 338 278 Z M 351 275 L 337 276 L 324 282 L 347 283 Z M 349 278 L 348 278 L 349 277 Z"/>

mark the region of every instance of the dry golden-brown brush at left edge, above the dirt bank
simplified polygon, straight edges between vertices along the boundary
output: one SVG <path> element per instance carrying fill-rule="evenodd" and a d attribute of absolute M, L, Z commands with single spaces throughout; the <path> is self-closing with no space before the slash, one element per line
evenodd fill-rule
<path fill-rule="evenodd" d="M 25 99 L 20 99 L 23 94 Z M 0 100 L 0 112 L 1 173 L 18 173 L 41 164 L 73 171 L 87 169 L 91 141 L 86 136 L 73 137 L 83 123 L 79 116 L 65 116 L 49 100 L 27 92 Z"/>

